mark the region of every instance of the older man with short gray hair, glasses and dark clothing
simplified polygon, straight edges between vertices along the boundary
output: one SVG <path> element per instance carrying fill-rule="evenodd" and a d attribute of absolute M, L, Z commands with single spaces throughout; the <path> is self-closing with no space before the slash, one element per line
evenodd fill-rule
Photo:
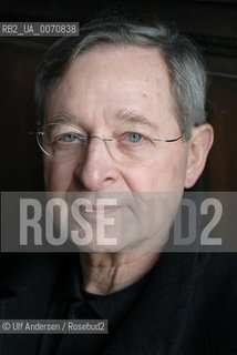
<path fill-rule="evenodd" d="M 109 334 L 13 335 L 17 353 L 237 354 L 234 257 L 163 253 L 154 244 L 213 143 L 196 48 L 161 22 L 95 21 L 48 50 L 35 92 L 45 190 L 68 204 L 80 193 L 91 199 L 81 213 L 94 236 L 81 253 L 28 256 L 3 317 L 109 320 Z M 142 205 L 147 194 L 167 193 L 172 204 L 157 213 L 150 239 L 122 235 L 115 223 L 105 240 L 114 236 L 116 246 L 101 246 L 95 199 L 107 193 L 140 195 Z M 125 223 L 143 220 L 132 200 L 120 201 L 128 202 L 103 215 L 118 221 L 123 210 Z M 8 338 L 1 354 L 13 353 Z"/>

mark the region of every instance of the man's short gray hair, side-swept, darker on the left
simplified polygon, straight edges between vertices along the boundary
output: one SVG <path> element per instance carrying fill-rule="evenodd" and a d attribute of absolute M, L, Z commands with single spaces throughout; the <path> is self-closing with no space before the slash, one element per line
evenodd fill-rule
<path fill-rule="evenodd" d="M 96 20 L 81 29 L 79 37 L 64 37 L 45 52 L 37 72 L 35 104 L 44 119 L 45 97 L 81 53 L 103 44 L 154 47 L 163 55 L 172 82 L 174 112 L 184 140 L 193 126 L 206 121 L 206 73 L 203 58 L 189 39 L 167 23 L 137 24 L 124 20 Z"/>

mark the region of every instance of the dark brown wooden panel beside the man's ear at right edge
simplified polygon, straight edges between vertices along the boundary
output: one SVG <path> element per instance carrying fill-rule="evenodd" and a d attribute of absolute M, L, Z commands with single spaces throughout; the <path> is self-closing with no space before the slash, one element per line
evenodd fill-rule
<path fill-rule="evenodd" d="M 206 179 L 212 191 L 237 187 L 237 77 L 213 77 L 209 121 L 215 143 Z"/>

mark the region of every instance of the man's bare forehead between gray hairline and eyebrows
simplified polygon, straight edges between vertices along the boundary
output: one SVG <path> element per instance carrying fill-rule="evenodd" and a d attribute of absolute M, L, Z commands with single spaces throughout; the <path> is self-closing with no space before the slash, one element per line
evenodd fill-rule
<path fill-rule="evenodd" d="M 80 54 L 52 88 L 48 116 L 66 111 L 90 120 L 120 110 L 171 113 L 171 80 L 161 52 L 152 47 L 100 45 Z"/>

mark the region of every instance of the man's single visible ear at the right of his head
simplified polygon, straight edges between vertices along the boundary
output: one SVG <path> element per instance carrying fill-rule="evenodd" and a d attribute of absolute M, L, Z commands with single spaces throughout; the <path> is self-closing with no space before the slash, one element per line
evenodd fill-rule
<path fill-rule="evenodd" d="M 210 124 L 205 123 L 193 128 L 188 141 L 187 170 L 185 187 L 192 187 L 206 164 L 206 159 L 214 141 L 214 132 Z"/>

